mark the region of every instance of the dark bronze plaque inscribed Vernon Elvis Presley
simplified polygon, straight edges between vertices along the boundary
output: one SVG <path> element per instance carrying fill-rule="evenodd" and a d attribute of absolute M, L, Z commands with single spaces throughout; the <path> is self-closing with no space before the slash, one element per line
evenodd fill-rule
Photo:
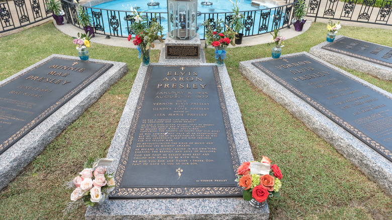
<path fill-rule="evenodd" d="M 252 64 L 392 161 L 392 97 L 304 54 Z"/>

